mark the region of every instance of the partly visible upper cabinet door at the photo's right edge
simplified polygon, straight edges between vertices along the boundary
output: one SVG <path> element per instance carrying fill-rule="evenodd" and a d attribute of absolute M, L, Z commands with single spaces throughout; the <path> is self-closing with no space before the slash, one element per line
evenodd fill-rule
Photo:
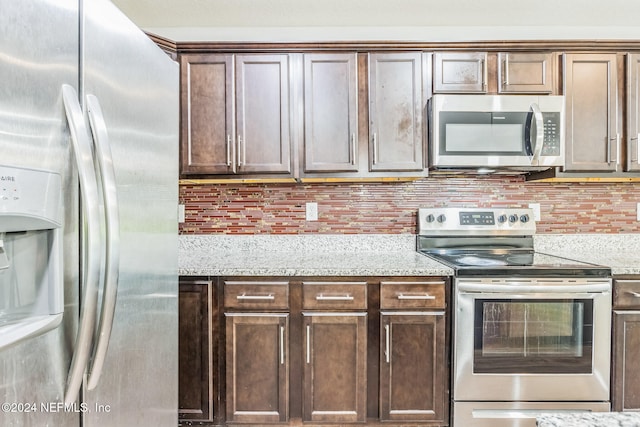
<path fill-rule="evenodd" d="M 640 170 L 640 55 L 627 56 L 627 170 Z"/>

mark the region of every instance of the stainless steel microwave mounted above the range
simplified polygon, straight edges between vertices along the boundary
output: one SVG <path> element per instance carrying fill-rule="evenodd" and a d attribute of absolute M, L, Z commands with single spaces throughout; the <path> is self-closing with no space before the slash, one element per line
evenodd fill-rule
<path fill-rule="evenodd" d="M 433 168 L 564 165 L 563 96 L 434 95 L 428 108 Z"/>

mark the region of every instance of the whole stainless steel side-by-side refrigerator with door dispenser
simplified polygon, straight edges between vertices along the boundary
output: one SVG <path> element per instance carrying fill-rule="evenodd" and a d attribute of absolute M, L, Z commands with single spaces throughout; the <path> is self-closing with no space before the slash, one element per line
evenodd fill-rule
<path fill-rule="evenodd" d="M 173 427 L 178 65 L 108 0 L 0 12 L 0 425 Z"/>

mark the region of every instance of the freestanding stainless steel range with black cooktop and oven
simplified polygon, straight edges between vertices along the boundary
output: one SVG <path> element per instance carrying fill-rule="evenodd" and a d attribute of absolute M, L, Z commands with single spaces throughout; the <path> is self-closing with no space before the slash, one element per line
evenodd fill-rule
<path fill-rule="evenodd" d="M 609 268 L 536 252 L 530 209 L 420 209 L 418 221 L 418 250 L 455 271 L 454 426 L 609 410 Z"/>

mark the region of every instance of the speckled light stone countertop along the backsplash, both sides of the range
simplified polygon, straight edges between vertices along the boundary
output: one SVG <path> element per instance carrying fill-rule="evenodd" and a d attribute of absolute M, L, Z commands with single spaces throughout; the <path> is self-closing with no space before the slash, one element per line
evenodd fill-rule
<path fill-rule="evenodd" d="M 640 275 L 640 234 L 541 234 L 539 252 Z M 183 276 L 450 276 L 413 234 L 181 235 Z"/>

